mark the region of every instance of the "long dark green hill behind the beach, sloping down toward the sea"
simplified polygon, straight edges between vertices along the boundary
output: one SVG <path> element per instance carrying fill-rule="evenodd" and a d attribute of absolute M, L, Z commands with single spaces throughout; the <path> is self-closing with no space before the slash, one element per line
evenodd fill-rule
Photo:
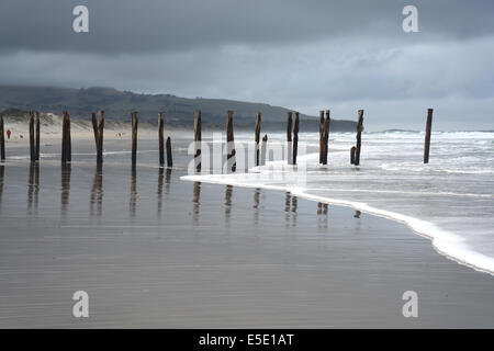
<path fill-rule="evenodd" d="M 201 110 L 202 124 L 205 127 L 224 127 L 226 111 L 234 111 L 237 128 L 254 128 L 255 116 L 262 113 L 262 129 L 283 128 L 287 112 L 280 106 L 266 103 L 252 103 L 221 99 L 186 99 L 171 94 L 139 94 L 119 91 L 113 88 L 54 88 L 0 86 L 0 111 L 11 109 L 40 110 L 60 115 L 69 111 L 72 118 L 89 118 L 91 112 L 104 111 L 106 120 L 130 120 L 131 112 L 137 111 L 139 120 L 157 123 L 157 113 L 165 112 L 167 124 L 192 126 L 194 111 Z M 334 132 L 353 132 L 353 121 L 332 121 Z M 318 117 L 301 115 L 301 132 L 317 132 Z"/>

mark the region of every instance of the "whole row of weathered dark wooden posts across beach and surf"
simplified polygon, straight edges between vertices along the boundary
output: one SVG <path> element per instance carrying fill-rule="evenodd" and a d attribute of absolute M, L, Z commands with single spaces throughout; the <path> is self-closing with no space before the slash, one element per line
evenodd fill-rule
<path fill-rule="evenodd" d="M 234 128 L 233 128 L 233 111 L 228 110 L 226 116 L 226 143 L 227 143 L 227 169 L 235 172 L 235 141 L 234 141 Z M 292 115 L 294 118 L 292 121 Z M 137 162 L 137 125 L 138 117 L 137 112 L 132 112 L 132 165 Z M 319 163 L 327 165 L 328 155 L 328 141 L 330 131 L 330 111 L 319 111 Z M 97 163 L 103 162 L 103 129 L 104 129 L 104 112 L 100 111 L 98 117 L 96 113 L 91 114 L 91 123 L 94 134 L 94 143 L 97 148 Z M 30 111 L 30 158 L 32 162 L 40 161 L 40 112 Z M 427 111 L 426 122 L 426 136 L 424 146 L 424 163 L 429 161 L 430 150 L 430 133 L 433 126 L 433 109 Z M 297 147 L 299 147 L 299 112 L 287 113 L 287 160 L 289 165 L 296 165 Z M 3 132 L 3 116 L 0 114 L 0 159 L 5 159 L 5 140 Z M 260 144 L 260 131 L 261 131 L 261 113 L 258 112 L 256 116 L 255 128 L 255 162 L 256 166 L 263 166 L 266 163 L 266 152 L 268 135 L 265 134 L 262 143 Z M 357 120 L 357 135 L 356 145 L 350 149 L 350 163 L 355 166 L 360 165 L 360 151 L 361 151 L 361 134 L 363 131 L 363 110 L 358 111 Z M 158 141 L 159 141 L 159 165 L 165 166 L 165 138 L 164 138 L 164 113 L 158 113 Z M 194 169 L 201 171 L 201 111 L 197 110 L 194 115 Z M 260 144 L 260 147 L 259 147 Z M 166 141 L 166 159 L 167 167 L 172 167 L 171 155 L 171 139 L 167 138 Z M 63 112 L 61 122 L 61 162 L 71 161 L 71 137 L 70 137 L 70 115 L 67 111 Z"/>

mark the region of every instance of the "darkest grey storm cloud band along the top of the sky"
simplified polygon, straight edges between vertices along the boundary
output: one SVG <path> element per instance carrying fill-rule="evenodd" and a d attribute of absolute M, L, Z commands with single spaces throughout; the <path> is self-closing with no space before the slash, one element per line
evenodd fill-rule
<path fill-rule="evenodd" d="M 90 33 L 71 31 L 75 5 Z M 2 0 L 2 49 L 143 53 L 224 44 L 403 37 L 401 11 L 419 9 L 416 37 L 469 38 L 494 32 L 494 1 L 369 0 Z"/>

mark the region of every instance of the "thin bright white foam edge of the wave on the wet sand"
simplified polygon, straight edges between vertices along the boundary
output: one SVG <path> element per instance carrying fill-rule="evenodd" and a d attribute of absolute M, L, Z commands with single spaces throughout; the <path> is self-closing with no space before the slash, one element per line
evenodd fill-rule
<path fill-rule="evenodd" d="M 299 196 L 310 201 L 317 201 L 332 205 L 346 206 L 353 210 L 358 210 L 363 213 L 368 213 L 370 215 L 403 223 L 407 225 L 408 228 L 411 228 L 412 231 L 414 231 L 415 234 L 419 235 L 420 237 L 429 239 L 433 248 L 439 254 L 450 259 L 451 261 L 454 261 L 462 265 L 467 265 L 475 271 L 494 275 L 493 258 L 473 251 L 468 247 L 467 244 L 464 244 L 463 238 L 453 233 L 444 230 L 430 222 L 414 218 L 407 215 L 403 215 L 386 210 L 372 207 L 366 203 L 307 194 L 303 189 L 295 186 L 268 185 L 259 182 L 244 183 L 242 181 L 236 180 L 235 177 L 237 177 L 237 174 L 227 174 L 226 177 L 225 176 L 214 177 L 204 174 L 204 176 L 182 176 L 180 177 L 180 179 L 187 181 L 201 181 L 212 184 L 228 184 L 242 188 L 261 188 L 267 190 L 288 191 L 294 196 Z"/>

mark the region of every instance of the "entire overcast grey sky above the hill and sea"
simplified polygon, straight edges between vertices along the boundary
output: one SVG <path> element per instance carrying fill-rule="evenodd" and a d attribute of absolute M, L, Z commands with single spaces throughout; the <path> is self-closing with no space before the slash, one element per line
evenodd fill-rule
<path fill-rule="evenodd" d="M 370 129 L 423 128 L 434 107 L 439 128 L 494 129 L 492 0 L 1 0 L 0 34 L 3 84 L 364 109 Z"/>

